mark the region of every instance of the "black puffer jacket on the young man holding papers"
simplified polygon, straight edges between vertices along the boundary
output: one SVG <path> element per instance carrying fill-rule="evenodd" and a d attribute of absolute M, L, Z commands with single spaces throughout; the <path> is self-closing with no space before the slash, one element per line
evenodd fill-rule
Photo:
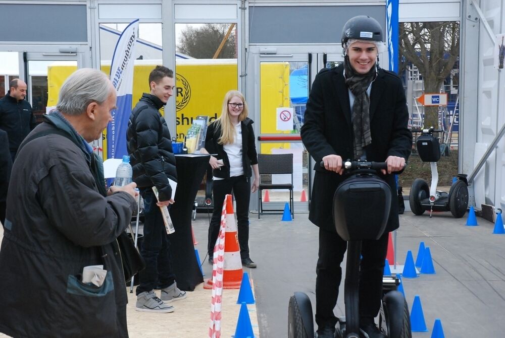
<path fill-rule="evenodd" d="M 139 188 L 156 186 L 162 201 L 172 195 L 168 178 L 177 182 L 170 131 L 159 112 L 163 105 L 158 97 L 144 93 L 131 112 L 126 133 L 133 181 Z"/>

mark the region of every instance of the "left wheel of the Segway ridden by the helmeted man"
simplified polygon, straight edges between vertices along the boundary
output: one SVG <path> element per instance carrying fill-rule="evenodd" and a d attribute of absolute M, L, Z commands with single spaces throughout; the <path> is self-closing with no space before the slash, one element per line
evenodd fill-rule
<path fill-rule="evenodd" d="M 288 338 L 314 338 L 312 318 L 312 305 L 309 296 L 303 292 L 295 292 L 289 298 Z"/>

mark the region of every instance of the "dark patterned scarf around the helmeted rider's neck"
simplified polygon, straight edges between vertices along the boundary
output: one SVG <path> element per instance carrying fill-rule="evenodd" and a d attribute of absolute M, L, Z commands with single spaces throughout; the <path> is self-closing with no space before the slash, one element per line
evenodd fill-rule
<path fill-rule="evenodd" d="M 349 63 L 349 57 L 344 58 L 345 84 L 354 95 L 352 105 L 352 130 L 354 131 L 354 159 L 359 160 L 364 154 L 366 146 L 372 143 L 370 134 L 370 98 L 367 89 L 375 80 L 376 67 L 372 67 L 367 74 L 357 73 Z"/>

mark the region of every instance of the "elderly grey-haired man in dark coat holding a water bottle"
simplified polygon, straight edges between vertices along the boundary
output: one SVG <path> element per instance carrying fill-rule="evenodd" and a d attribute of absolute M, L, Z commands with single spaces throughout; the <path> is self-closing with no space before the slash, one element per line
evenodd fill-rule
<path fill-rule="evenodd" d="M 107 191 L 102 161 L 88 144 L 115 108 L 108 77 L 78 70 L 63 84 L 57 110 L 21 144 L 0 250 L 0 332 L 128 337 L 116 238 L 135 210 L 135 183 Z M 97 272 L 83 281 L 91 265 Z"/>

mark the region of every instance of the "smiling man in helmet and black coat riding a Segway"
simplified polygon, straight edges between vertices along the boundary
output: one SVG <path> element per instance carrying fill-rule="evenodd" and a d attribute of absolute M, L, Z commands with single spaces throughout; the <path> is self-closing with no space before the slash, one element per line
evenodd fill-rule
<path fill-rule="evenodd" d="M 382 178 L 391 187 L 391 209 L 383 236 L 364 241 L 360 268 L 360 327 L 370 338 L 384 335 L 374 324 L 380 307 L 388 232 L 398 228 L 398 198 L 394 176 L 410 155 L 412 134 L 401 80 L 377 65 L 382 28 L 370 17 L 350 19 L 342 30 L 344 63 L 324 69 L 312 86 L 301 138 L 316 161 L 309 219 L 319 227 L 316 279 L 316 322 L 319 338 L 333 338 L 338 287 L 347 243 L 336 233 L 332 199 L 341 176 L 342 160 L 387 162 Z M 324 169 L 319 163 L 324 162 Z M 363 206 L 366 212 L 366 206 Z"/>

